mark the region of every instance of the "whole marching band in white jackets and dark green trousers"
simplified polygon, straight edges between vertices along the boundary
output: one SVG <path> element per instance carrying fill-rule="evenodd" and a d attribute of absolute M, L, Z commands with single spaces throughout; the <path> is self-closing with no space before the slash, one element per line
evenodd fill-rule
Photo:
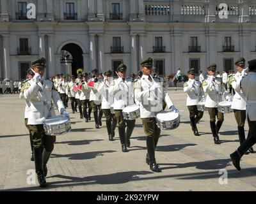
<path fill-rule="evenodd" d="M 108 140 L 113 141 L 115 129 L 118 129 L 122 152 L 128 152 L 135 121 L 141 118 L 147 136 L 146 163 L 150 170 L 161 172 L 155 156 L 161 129 L 178 128 L 180 122 L 179 110 L 167 92 L 168 78 L 184 81 L 186 105 L 195 136 L 200 136 L 196 124 L 204 112 L 208 112 L 214 144 L 219 145 L 218 133 L 224 113 L 234 111 L 240 146 L 230 157 L 237 170 L 241 170 L 241 157 L 253 153 L 252 146 L 256 142 L 256 59 L 249 61 L 245 68 L 246 61 L 241 57 L 235 63 L 237 73 L 229 76 L 223 73 L 222 77 L 216 75 L 216 64 L 211 64 L 207 68 L 207 78 L 201 73 L 199 81 L 195 80 L 193 68 L 188 71 L 188 76 L 181 76 L 179 69 L 175 77 L 159 77 L 152 63 L 150 57 L 141 62 L 137 77 L 134 74 L 127 77 L 127 66 L 120 64 L 115 78 L 110 70 L 100 76 L 98 70 L 93 69 L 90 77 L 83 73 L 83 69 L 77 69 L 77 78 L 56 75 L 51 80 L 44 77 L 44 58 L 31 63 L 27 80 L 20 84 L 20 98 L 26 101 L 25 125 L 29 130 L 31 161 L 35 161 L 40 187 L 47 186 L 47 162 L 56 136 L 71 128 L 70 116 L 65 109 L 68 100 L 72 113 L 79 112 L 84 122 L 90 122 L 93 112 L 96 129 L 102 126 L 104 113 Z M 234 89 L 234 94 L 228 94 L 227 83 Z M 54 115 L 54 106 L 60 115 Z M 249 126 L 247 138 L 244 134 L 246 119 Z"/>

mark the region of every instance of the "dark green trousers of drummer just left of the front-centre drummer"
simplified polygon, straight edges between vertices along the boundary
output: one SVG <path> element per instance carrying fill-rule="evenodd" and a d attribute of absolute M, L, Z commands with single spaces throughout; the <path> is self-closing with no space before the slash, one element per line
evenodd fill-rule
<path fill-rule="evenodd" d="M 114 110 L 115 111 L 115 116 L 117 120 L 117 127 L 118 131 L 119 129 L 122 129 L 122 131 L 119 131 L 119 136 L 120 136 L 120 142 L 122 145 L 124 145 L 127 141 L 127 139 L 131 138 L 132 131 L 135 126 L 135 121 L 136 120 L 125 120 L 123 116 L 123 110 Z M 126 134 L 125 134 L 125 127 L 127 126 L 126 129 Z M 124 134 L 120 134 L 124 133 Z"/>

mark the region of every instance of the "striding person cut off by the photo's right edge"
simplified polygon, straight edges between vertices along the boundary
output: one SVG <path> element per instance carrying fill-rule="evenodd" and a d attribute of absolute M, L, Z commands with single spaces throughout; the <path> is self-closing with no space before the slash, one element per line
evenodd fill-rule
<path fill-rule="evenodd" d="M 230 154 L 232 163 L 237 170 L 241 170 L 240 159 L 256 142 L 256 59 L 248 62 L 249 73 L 241 80 L 241 89 L 243 89 L 246 98 L 246 118 L 250 136 L 238 147 L 238 149 Z"/>

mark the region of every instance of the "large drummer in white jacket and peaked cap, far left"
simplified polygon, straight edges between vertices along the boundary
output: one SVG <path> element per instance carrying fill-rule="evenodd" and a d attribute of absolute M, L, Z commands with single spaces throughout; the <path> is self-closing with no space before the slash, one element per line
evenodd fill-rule
<path fill-rule="evenodd" d="M 35 76 L 32 80 L 26 82 L 22 89 L 24 98 L 30 104 L 28 128 L 33 138 L 35 168 L 40 187 L 46 186 L 46 164 L 56 141 L 56 136 L 45 136 L 44 132 L 44 121 L 51 116 L 51 101 L 54 101 L 55 106 L 61 114 L 69 117 L 58 92 L 54 88 L 54 83 L 43 77 L 45 62 L 45 58 L 42 57 L 31 63 L 31 69 L 35 72 Z"/>

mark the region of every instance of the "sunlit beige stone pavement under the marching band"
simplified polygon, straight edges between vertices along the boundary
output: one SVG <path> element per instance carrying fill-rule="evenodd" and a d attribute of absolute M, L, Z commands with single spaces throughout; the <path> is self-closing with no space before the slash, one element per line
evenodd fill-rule
<path fill-rule="evenodd" d="M 194 136 L 189 125 L 186 94 L 173 89 L 169 92 L 175 106 L 185 112 L 181 113 L 179 128 L 161 132 L 156 151 L 161 173 L 153 173 L 145 163 L 147 149 L 141 119 L 136 120 L 129 152 L 123 153 L 117 129 L 115 141 L 108 141 L 104 118 L 102 128 L 95 129 L 93 118 L 85 123 L 75 113 L 70 114 L 72 131 L 57 136 L 47 165 L 49 187 L 46 189 L 40 189 L 37 180 L 35 184 L 27 182 L 32 178 L 35 164 L 30 161 L 24 100 L 17 94 L 0 95 L 0 190 L 255 191 L 256 154 L 243 157 L 240 172 L 230 162 L 229 154 L 239 145 L 234 114 L 225 114 L 220 130 L 222 143 L 214 145 L 208 113 L 205 112 L 198 124 L 201 136 Z M 221 172 L 225 170 L 228 179 L 222 180 Z"/>

